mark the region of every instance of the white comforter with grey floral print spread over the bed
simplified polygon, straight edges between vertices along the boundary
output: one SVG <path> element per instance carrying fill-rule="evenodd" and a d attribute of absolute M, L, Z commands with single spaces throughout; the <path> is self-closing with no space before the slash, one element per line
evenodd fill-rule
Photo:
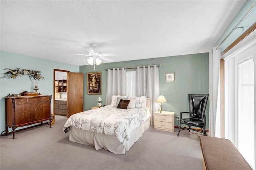
<path fill-rule="evenodd" d="M 125 145 L 132 130 L 139 127 L 150 116 L 148 108 L 116 109 L 108 105 L 70 116 L 63 130 L 66 133 L 70 127 L 76 127 L 96 133 L 111 134 Z"/>

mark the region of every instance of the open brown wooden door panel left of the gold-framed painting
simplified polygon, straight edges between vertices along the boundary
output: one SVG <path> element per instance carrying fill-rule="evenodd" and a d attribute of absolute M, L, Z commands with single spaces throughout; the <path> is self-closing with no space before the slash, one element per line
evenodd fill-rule
<path fill-rule="evenodd" d="M 68 73 L 68 113 L 67 118 L 83 111 L 84 105 L 84 74 Z"/>

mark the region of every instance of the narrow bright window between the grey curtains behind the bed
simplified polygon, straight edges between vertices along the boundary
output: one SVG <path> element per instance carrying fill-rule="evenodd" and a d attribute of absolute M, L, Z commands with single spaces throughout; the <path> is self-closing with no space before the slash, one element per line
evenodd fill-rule
<path fill-rule="evenodd" d="M 136 71 L 126 71 L 126 95 L 135 96 Z"/>

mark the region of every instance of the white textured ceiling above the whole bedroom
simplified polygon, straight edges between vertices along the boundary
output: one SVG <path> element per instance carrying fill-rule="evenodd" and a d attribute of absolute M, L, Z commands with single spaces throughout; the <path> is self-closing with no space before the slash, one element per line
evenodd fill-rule
<path fill-rule="evenodd" d="M 74 65 L 86 56 L 65 53 L 94 42 L 114 62 L 204 53 L 245 2 L 1 0 L 0 49 Z"/>

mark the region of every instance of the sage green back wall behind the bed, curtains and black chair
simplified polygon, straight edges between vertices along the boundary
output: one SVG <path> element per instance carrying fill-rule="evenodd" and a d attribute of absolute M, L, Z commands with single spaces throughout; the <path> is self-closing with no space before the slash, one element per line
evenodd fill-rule
<path fill-rule="evenodd" d="M 160 95 L 164 95 L 167 100 L 167 103 L 163 104 L 164 111 L 174 111 L 176 116 L 180 115 L 180 112 L 188 111 L 189 93 L 209 94 L 209 53 L 104 63 L 97 65 L 95 71 L 92 65 L 83 65 L 80 66 L 80 73 L 84 73 L 84 110 L 90 110 L 91 107 L 97 106 L 98 97 L 102 98 L 102 105 L 106 105 L 107 71 L 105 69 L 154 64 L 162 65 L 159 69 L 159 83 Z M 87 95 L 87 73 L 91 72 L 102 73 L 102 95 Z M 166 82 L 165 73 L 175 73 L 175 82 Z M 208 115 L 209 103 L 206 109 L 207 129 Z M 176 119 L 175 126 L 178 126 Z"/>

